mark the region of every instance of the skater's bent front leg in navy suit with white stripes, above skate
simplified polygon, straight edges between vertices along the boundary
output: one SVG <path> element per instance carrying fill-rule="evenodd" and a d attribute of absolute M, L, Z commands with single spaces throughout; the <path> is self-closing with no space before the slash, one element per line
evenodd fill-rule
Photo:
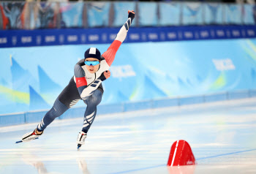
<path fill-rule="evenodd" d="M 94 121 L 94 118 L 97 113 L 97 105 L 102 101 L 102 90 L 95 90 L 94 94 L 91 94 L 91 96 L 84 100 L 83 102 L 86 103 L 86 112 L 84 113 L 84 123 L 83 123 L 83 129 L 82 131 L 87 133 L 90 129 L 90 126 L 92 122 Z"/>

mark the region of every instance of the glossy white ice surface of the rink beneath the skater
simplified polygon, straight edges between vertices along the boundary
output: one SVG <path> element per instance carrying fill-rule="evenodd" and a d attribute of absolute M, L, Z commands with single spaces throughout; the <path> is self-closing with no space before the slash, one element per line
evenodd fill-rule
<path fill-rule="evenodd" d="M 256 173 L 256 99 L 99 115 L 77 151 L 83 116 L 0 127 L 0 173 Z M 197 165 L 166 167 L 170 146 L 187 140 Z"/>

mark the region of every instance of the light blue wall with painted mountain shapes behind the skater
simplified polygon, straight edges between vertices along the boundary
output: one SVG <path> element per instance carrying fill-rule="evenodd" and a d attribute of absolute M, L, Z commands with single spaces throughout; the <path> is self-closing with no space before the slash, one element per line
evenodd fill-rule
<path fill-rule="evenodd" d="M 0 113 L 50 108 L 84 51 L 109 45 L 1 48 Z M 255 51 L 256 39 L 124 43 L 102 104 L 255 88 Z"/>

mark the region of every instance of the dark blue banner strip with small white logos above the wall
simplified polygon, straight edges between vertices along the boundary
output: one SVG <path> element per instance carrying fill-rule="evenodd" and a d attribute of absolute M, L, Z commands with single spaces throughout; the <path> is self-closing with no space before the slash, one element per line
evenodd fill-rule
<path fill-rule="evenodd" d="M 111 43 L 119 29 L 2 30 L 0 48 Z M 131 28 L 124 42 L 165 42 L 256 37 L 256 26 L 170 26 Z"/>

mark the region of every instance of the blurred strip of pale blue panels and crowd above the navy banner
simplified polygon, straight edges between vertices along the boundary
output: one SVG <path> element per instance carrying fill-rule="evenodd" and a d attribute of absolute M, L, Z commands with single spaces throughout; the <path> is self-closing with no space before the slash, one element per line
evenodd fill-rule
<path fill-rule="evenodd" d="M 229 1 L 231 2 L 231 1 Z M 223 1 L 1 1 L 0 29 L 119 27 L 127 10 L 134 26 L 255 25 L 251 0 Z"/>

